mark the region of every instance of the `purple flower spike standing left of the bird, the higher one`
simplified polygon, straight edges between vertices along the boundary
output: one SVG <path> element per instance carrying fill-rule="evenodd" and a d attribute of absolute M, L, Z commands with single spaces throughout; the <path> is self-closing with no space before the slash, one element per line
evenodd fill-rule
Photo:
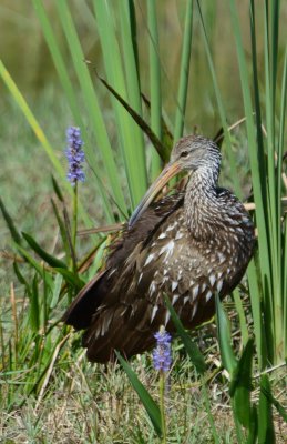
<path fill-rule="evenodd" d="M 82 163 L 84 162 L 84 152 L 82 150 L 83 141 L 81 139 L 81 130 L 76 127 L 70 127 L 66 130 L 68 148 L 65 155 L 69 162 L 69 171 L 66 179 L 72 185 L 75 185 L 78 181 L 84 182 L 85 175 L 82 170 Z"/>

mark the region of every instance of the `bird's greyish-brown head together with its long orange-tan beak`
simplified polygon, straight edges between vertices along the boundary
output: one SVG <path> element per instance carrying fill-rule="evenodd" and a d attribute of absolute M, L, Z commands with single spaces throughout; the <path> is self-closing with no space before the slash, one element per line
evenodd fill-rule
<path fill-rule="evenodd" d="M 199 168 L 212 168 L 218 171 L 219 164 L 221 152 L 214 141 L 203 135 L 186 135 L 180 139 L 172 150 L 170 162 L 134 210 L 129 226 L 135 223 L 156 194 L 174 175 L 181 171 L 195 171 Z"/>

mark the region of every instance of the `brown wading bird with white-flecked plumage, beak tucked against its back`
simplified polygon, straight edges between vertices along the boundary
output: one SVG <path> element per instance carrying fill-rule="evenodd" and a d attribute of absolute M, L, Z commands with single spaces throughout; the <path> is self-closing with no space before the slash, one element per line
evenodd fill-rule
<path fill-rule="evenodd" d="M 83 330 L 89 361 L 126 359 L 155 344 L 163 325 L 175 327 L 168 297 L 185 329 L 215 313 L 215 296 L 229 294 L 253 256 L 255 229 L 243 203 L 218 186 L 222 155 L 203 135 L 186 135 L 112 246 L 104 270 L 79 293 L 63 316 Z M 155 199 L 180 172 L 184 190 Z"/>

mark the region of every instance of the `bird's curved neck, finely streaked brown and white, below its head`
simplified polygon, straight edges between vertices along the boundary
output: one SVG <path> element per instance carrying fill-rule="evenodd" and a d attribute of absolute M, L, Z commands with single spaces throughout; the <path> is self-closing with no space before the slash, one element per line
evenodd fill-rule
<path fill-rule="evenodd" d="M 218 224 L 221 211 L 217 201 L 218 169 L 202 167 L 189 178 L 185 193 L 185 218 L 192 236 L 208 240 Z"/>

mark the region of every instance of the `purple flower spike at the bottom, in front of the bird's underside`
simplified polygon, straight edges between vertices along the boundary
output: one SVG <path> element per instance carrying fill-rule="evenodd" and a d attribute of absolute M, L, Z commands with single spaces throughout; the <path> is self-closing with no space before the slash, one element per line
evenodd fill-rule
<path fill-rule="evenodd" d="M 168 372 L 172 364 L 172 336 L 165 331 L 164 326 L 161 326 L 158 333 L 155 333 L 154 337 L 156 339 L 156 347 L 153 352 L 154 367 L 155 370 Z"/>

